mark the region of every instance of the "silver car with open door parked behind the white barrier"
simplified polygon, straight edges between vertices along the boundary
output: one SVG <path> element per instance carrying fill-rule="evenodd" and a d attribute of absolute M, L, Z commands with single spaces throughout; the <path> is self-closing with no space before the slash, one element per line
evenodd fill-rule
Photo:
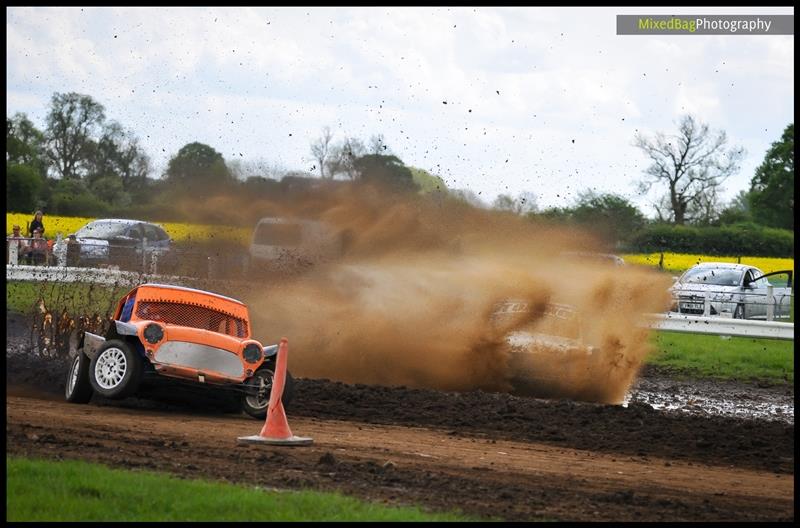
<path fill-rule="evenodd" d="M 765 319 L 767 286 L 772 285 L 773 314 L 789 315 L 792 295 L 792 270 L 764 274 L 744 264 L 705 262 L 685 271 L 670 288 L 672 311 L 700 315 L 705 298 L 710 300 L 710 315 L 734 319 Z"/>

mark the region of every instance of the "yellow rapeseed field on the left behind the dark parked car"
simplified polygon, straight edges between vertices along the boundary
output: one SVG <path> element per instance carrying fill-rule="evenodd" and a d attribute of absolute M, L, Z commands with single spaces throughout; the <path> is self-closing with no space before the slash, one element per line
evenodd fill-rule
<path fill-rule="evenodd" d="M 6 235 L 11 234 L 14 224 L 22 227 L 24 232 L 27 224 L 33 219 L 33 215 L 20 213 L 6 213 Z M 66 236 L 74 233 L 95 218 L 84 218 L 77 216 L 44 216 L 45 236 L 55 238 L 61 233 Z M 244 227 L 216 226 L 203 224 L 185 224 L 179 222 L 155 222 L 164 228 L 167 234 L 176 242 L 187 240 L 232 240 L 242 245 L 249 244 L 250 235 L 253 230 Z M 26 234 L 26 233 L 23 233 Z"/>

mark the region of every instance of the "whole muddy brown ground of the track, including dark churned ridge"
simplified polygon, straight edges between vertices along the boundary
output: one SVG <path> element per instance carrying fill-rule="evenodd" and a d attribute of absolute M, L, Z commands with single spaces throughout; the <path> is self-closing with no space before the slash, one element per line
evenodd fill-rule
<path fill-rule="evenodd" d="M 627 406 L 613 406 L 299 379 L 289 421 L 314 445 L 238 447 L 262 424 L 208 398 L 63 403 L 63 362 L 32 356 L 24 321 L 7 322 L 8 453 L 508 520 L 794 519 L 791 386 L 649 369 Z M 670 391 L 689 396 L 659 409 L 642 401 Z M 791 413 L 703 409 L 734 400 L 738 409 L 791 402 Z"/>

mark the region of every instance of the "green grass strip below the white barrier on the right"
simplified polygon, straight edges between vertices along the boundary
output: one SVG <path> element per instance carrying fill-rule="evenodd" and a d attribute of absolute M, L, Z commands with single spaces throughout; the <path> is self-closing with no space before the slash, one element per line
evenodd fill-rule
<path fill-rule="evenodd" d="M 675 332 L 654 336 L 651 365 L 700 377 L 794 382 L 794 341 Z"/>

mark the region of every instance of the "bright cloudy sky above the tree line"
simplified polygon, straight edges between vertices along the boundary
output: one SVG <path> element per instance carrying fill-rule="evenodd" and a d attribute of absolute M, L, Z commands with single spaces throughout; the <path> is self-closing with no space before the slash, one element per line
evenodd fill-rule
<path fill-rule="evenodd" d="M 135 134 L 157 177 L 187 143 L 310 171 L 310 144 L 382 134 L 406 165 L 491 203 L 591 189 L 648 215 L 637 132 L 691 113 L 742 146 L 749 187 L 794 115 L 794 36 L 616 35 L 617 14 L 793 8 L 6 8 L 6 114 L 40 128 L 78 92 Z"/>

